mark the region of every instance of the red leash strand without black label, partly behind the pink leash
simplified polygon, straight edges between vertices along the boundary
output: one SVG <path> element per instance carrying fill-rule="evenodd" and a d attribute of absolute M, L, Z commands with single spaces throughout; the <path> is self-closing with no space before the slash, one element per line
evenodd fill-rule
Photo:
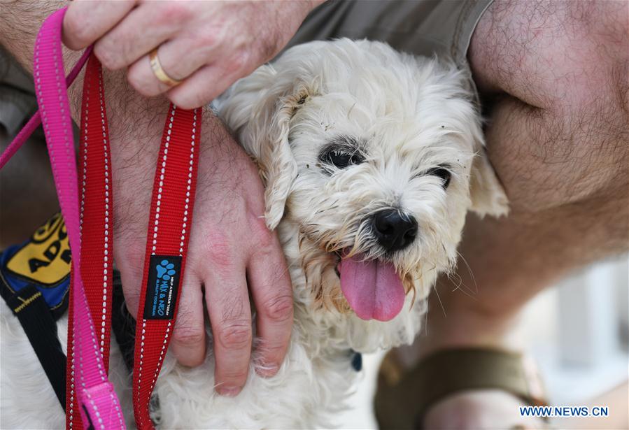
<path fill-rule="evenodd" d="M 101 64 L 94 54 L 87 60 L 83 79 L 80 119 L 79 189 L 80 189 L 80 274 L 87 299 L 87 309 L 94 322 L 97 347 L 108 373 L 113 298 L 113 189 L 111 188 L 111 151 L 105 109 Z M 81 362 L 75 353 L 76 295 L 70 291 L 68 357 L 66 366 L 66 428 L 80 423 L 88 426 L 97 420 L 97 411 L 79 403 L 81 385 L 76 383 L 76 369 Z M 80 303 L 79 303 L 80 305 Z M 103 395 L 106 395 L 104 393 Z M 116 413 L 120 413 L 117 409 Z"/>

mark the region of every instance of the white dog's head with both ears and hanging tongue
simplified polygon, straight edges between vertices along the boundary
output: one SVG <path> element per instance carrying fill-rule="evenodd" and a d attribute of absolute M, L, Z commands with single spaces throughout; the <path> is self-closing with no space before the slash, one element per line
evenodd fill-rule
<path fill-rule="evenodd" d="M 220 114 L 260 164 L 269 227 L 298 227 L 314 306 L 391 320 L 453 267 L 467 210 L 507 211 L 465 78 L 434 59 L 300 45 Z"/>

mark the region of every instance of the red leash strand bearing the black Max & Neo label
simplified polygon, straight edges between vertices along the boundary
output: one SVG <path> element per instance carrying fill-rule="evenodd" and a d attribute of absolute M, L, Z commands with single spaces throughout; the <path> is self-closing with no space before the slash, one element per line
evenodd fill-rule
<path fill-rule="evenodd" d="M 200 132 L 201 115 L 197 115 L 197 110 L 170 106 L 155 169 L 142 280 L 144 294 L 140 296 L 136 318 L 133 405 L 139 429 L 153 429 L 148 403 L 177 314 L 192 227 Z"/>

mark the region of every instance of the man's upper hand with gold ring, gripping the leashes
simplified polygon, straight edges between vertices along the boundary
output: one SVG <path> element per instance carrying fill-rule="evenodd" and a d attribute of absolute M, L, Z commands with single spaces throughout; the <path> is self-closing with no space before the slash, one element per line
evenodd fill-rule
<path fill-rule="evenodd" d="M 64 43 L 94 52 L 110 70 L 129 67 L 145 96 L 166 93 L 182 108 L 202 106 L 273 58 L 321 0 L 74 0 L 64 18 Z M 150 69 L 158 48 L 164 71 L 183 80 L 170 88 Z"/>

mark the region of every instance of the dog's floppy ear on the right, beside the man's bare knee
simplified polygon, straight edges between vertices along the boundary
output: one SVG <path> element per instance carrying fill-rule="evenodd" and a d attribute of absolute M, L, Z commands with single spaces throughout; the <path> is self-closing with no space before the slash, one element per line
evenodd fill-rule
<path fill-rule="evenodd" d="M 471 209 L 481 217 L 485 215 L 499 217 L 509 213 L 507 194 L 504 193 L 482 146 L 472 161 L 469 196 L 472 199 Z"/>

